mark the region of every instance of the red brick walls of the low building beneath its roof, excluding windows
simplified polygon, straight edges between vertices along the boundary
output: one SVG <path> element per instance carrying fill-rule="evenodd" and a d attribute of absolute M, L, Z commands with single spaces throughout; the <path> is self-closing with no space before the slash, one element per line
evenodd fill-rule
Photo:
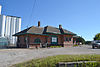
<path fill-rule="evenodd" d="M 58 37 L 58 43 L 57 44 L 52 44 L 52 36 L 57 36 Z M 25 41 L 27 37 L 27 42 Z M 66 41 L 66 37 L 71 37 L 71 41 Z M 41 43 L 34 43 L 34 40 L 39 38 L 41 40 Z M 54 34 L 48 34 L 48 36 L 44 36 L 44 35 L 32 35 L 32 34 L 27 34 L 27 35 L 22 35 L 19 36 L 18 39 L 20 40 L 20 42 L 17 42 L 17 44 L 20 44 L 21 47 L 26 47 L 27 43 L 29 45 L 29 47 L 40 47 L 43 44 L 48 44 L 48 46 L 72 46 L 73 45 L 73 38 L 72 35 L 54 35 Z M 19 41 L 18 40 L 18 41 Z"/>

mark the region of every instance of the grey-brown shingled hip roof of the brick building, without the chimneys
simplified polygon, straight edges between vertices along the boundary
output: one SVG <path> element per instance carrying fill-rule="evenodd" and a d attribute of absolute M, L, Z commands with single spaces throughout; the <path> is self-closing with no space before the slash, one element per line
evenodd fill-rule
<path fill-rule="evenodd" d="M 36 27 L 36 26 L 31 26 L 21 32 L 16 33 L 14 36 L 20 35 L 20 34 L 47 34 L 47 33 L 52 33 L 52 34 L 71 34 L 71 35 L 76 35 L 66 29 L 59 29 L 56 27 L 52 26 L 46 26 L 46 27 Z"/>

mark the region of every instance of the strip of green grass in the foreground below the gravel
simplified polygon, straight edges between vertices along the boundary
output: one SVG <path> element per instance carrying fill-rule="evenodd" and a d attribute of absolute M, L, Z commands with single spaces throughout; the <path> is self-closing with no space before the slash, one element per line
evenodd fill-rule
<path fill-rule="evenodd" d="M 100 55 L 57 55 L 46 58 L 33 59 L 27 62 L 15 64 L 11 67 L 56 67 L 58 62 L 74 62 L 74 61 L 98 61 L 100 62 Z M 87 65 L 92 65 L 88 63 Z M 95 66 L 93 67 L 97 67 Z M 87 66 L 89 67 L 89 66 Z M 90 66 L 91 67 L 91 66 Z M 100 63 L 99 66 L 100 67 Z"/>

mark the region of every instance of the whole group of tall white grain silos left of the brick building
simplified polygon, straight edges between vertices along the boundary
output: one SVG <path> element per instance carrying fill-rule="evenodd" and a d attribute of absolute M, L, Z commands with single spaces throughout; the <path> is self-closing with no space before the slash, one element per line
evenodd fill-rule
<path fill-rule="evenodd" d="M 5 16 L 2 14 L 0 15 L 0 37 L 9 39 L 10 44 L 16 44 L 17 38 L 12 35 L 20 31 L 21 31 L 20 17 L 8 16 L 8 15 Z"/>

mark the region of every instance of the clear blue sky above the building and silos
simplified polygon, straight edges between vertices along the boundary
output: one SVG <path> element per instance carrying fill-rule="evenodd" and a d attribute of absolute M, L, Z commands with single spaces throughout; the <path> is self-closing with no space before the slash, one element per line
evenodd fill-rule
<path fill-rule="evenodd" d="M 85 40 L 93 40 L 100 32 L 100 0 L 0 0 L 2 14 L 22 18 L 22 30 L 27 26 L 59 24 Z"/>

